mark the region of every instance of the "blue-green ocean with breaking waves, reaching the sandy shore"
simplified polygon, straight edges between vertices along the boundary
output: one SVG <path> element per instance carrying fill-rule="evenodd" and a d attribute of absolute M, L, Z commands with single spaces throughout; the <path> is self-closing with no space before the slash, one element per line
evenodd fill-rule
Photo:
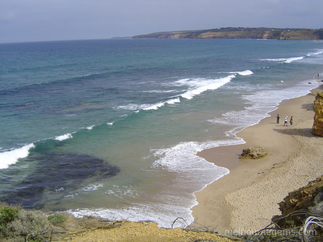
<path fill-rule="evenodd" d="M 306 40 L 2 43 L 0 201 L 189 223 L 194 192 L 230 172 L 197 152 L 244 143 L 237 132 L 320 84 L 322 61 Z"/>

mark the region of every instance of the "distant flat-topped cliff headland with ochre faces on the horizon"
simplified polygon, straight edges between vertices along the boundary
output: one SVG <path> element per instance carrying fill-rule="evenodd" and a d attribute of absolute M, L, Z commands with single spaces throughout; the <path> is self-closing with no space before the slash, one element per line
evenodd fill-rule
<path fill-rule="evenodd" d="M 157 32 L 136 35 L 132 38 L 190 38 L 190 39 L 323 39 L 323 29 L 274 29 L 274 28 L 218 28 L 207 30 Z"/>

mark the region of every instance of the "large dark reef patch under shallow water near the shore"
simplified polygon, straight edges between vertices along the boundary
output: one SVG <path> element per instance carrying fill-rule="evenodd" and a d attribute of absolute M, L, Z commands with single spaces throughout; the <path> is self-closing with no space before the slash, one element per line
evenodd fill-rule
<path fill-rule="evenodd" d="M 25 161 L 33 161 L 27 157 Z M 71 191 L 81 188 L 84 180 L 99 180 L 112 177 L 120 172 L 115 165 L 88 154 L 77 153 L 43 153 L 37 157 L 38 164 L 34 171 L 26 176 L 12 189 L 4 191 L 1 200 L 7 203 L 21 203 L 24 208 L 41 209 L 46 194 L 55 194 L 54 200 L 60 200 Z M 13 169 L 11 172 L 15 173 Z M 7 177 L 11 177 L 8 174 Z M 10 178 L 2 183 L 14 183 Z"/>

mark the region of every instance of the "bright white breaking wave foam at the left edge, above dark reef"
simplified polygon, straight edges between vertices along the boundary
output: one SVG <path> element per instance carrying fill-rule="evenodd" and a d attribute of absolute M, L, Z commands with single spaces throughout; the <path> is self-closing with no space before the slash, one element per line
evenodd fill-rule
<path fill-rule="evenodd" d="M 13 149 L 0 153 L 0 169 L 6 169 L 11 164 L 15 164 L 19 158 L 27 157 L 29 149 L 34 148 L 34 144 L 25 145 L 19 149 Z"/>

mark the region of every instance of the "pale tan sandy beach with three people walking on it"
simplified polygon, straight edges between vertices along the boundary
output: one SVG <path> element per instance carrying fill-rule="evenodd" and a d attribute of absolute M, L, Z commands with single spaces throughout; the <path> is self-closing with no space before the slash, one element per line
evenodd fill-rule
<path fill-rule="evenodd" d="M 313 93 L 323 88 L 315 88 Z M 225 230 L 255 231 L 279 215 L 278 203 L 292 192 L 323 174 L 323 140 L 311 134 L 314 95 L 284 100 L 278 109 L 257 125 L 237 134 L 241 145 L 203 150 L 198 155 L 230 174 L 195 193 L 198 205 L 192 208 L 196 223 Z M 280 115 L 280 124 L 276 116 Z M 288 126 L 284 118 L 288 116 Z M 294 117 L 293 127 L 289 124 Z M 268 155 L 258 160 L 239 161 L 244 148 L 262 146 Z"/>

